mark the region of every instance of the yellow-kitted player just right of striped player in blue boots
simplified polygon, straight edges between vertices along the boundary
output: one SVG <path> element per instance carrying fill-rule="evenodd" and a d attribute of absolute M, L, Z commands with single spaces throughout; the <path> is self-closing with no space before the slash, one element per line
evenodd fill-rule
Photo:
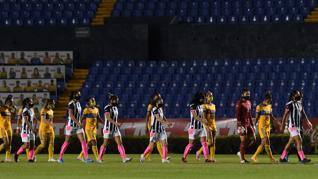
<path fill-rule="evenodd" d="M 100 122 L 101 124 L 105 125 L 105 122 L 100 119 L 99 111 L 95 108 L 95 99 L 93 97 L 89 97 L 86 102 L 89 104 L 87 108 L 84 109 L 82 117 L 80 118 L 80 122 L 82 123 L 83 119 L 86 118 L 86 126 L 85 126 L 85 133 L 87 136 L 87 149 L 92 146 L 93 153 L 98 160 L 98 149 L 96 146 L 96 122 Z M 77 159 L 79 161 L 83 160 L 84 152 L 82 151 Z"/>

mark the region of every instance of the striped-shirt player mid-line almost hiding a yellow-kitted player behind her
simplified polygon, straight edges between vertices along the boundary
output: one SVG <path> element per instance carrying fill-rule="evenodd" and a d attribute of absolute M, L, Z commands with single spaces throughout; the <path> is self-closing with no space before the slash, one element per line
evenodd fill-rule
<path fill-rule="evenodd" d="M 161 108 L 163 106 L 163 101 L 161 98 L 157 98 L 153 103 L 151 103 L 151 106 L 153 106 L 153 108 L 151 109 L 152 124 L 150 126 L 150 146 L 148 146 L 145 152 L 141 155 L 140 161 L 144 162 L 146 154 L 148 154 L 155 147 L 158 141 L 162 141 L 162 163 L 169 163 L 170 161 L 167 159 L 167 134 L 164 131 L 162 123 L 167 124 L 169 128 L 172 123 L 167 121 L 162 112 Z"/>

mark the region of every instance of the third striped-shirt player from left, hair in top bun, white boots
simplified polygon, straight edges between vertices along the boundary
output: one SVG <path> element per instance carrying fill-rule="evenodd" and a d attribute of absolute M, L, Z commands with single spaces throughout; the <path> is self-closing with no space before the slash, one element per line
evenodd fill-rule
<path fill-rule="evenodd" d="M 125 149 L 122 146 L 121 141 L 121 134 L 119 132 L 119 128 L 121 127 L 117 123 L 117 116 L 118 116 L 118 110 L 117 110 L 117 104 L 118 104 L 118 96 L 113 95 L 109 93 L 109 103 L 104 108 L 104 114 L 105 114 L 105 125 L 104 125 L 104 143 L 102 146 L 100 146 L 100 156 L 97 162 L 103 163 L 105 162 L 103 159 L 103 155 L 105 153 L 106 147 L 109 144 L 109 141 L 111 138 L 115 138 L 115 141 L 117 143 L 117 148 L 119 153 L 121 154 L 122 161 L 124 163 L 133 160 L 133 158 L 126 157 Z"/>

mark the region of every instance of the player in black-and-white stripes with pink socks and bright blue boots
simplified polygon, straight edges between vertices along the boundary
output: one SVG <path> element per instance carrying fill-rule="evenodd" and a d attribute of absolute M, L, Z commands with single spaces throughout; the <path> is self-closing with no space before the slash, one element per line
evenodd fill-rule
<path fill-rule="evenodd" d="M 87 145 L 86 145 L 86 140 L 84 136 L 84 130 L 83 130 L 83 125 L 80 123 L 80 116 L 81 116 L 81 111 L 82 108 L 79 104 L 80 100 L 80 92 L 79 91 L 72 91 L 71 95 L 69 97 L 69 103 L 68 103 L 68 114 L 69 117 L 67 119 L 66 123 L 66 135 L 65 135 L 65 142 L 62 145 L 61 148 L 61 153 L 58 159 L 58 162 L 63 163 L 63 155 L 64 152 L 67 148 L 67 146 L 70 144 L 72 136 L 74 134 L 77 134 L 77 137 L 79 138 L 79 141 L 82 144 L 82 151 L 85 157 L 85 162 L 93 162 L 94 160 L 91 160 L 88 158 L 87 155 Z M 83 158 L 80 158 L 83 160 Z"/>

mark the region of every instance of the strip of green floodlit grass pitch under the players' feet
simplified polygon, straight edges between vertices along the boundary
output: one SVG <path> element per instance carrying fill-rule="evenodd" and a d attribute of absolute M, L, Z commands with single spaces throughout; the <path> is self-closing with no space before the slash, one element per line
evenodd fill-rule
<path fill-rule="evenodd" d="M 58 159 L 59 154 L 54 154 Z M 300 164 L 296 155 L 290 156 L 291 163 L 272 163 L 267 155 L 259 155 L 258 163 L 251 161 L 252 155 L 246 155 L 251 163 L 241 164 L 237 155 L 215 155 L 219 162 L 204 163 L 204 155 L 197 161 L 195 155 L 188 156 L 189 163 L 183 163 L 183 154 L 168 154 L 170 163 L 161 163 L 159 154 L 151 154 L 152 161 L 140 162 L 140 154 L 128 154 L 133 161 L 123 163 L 120 154 L 105 154 L 105 163 L 97 163 L 93 154 L 89 154 L 93 163 L 80 162 L 77 154 L 65 154 L 65 163 L 48 162 L 47 154 L 38 154 L 37 163 L 27 163 L 26 154 L 20 154 L 19 162 L 0 163 L 0 176 L 6 178 L 30 179 L 71 179 L 71 178 L 315 178 L 318 173 L 318 155 L 308 155 L 312 161 Z M 5 155 L 0 154 L 4 160 Z M 280 155 L 274 155 L 279 159 Z M 10 155 L 13 159 L 13 155 Z"/>

